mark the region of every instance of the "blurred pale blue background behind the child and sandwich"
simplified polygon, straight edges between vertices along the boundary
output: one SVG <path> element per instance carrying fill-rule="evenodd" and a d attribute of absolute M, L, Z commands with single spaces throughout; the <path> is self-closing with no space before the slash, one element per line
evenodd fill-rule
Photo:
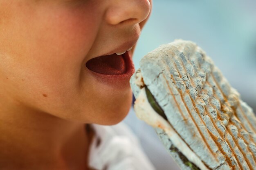
<path fill-rule="evenodd" d="M 153 0 L 133 57 L 140 59 L 174 39 L 194 41 L 241 98 L 256 111 L 256 1 L 255 0 Z M 131 108 L 124 120 L 137 134 L 157 170 L 179 170 L 155 131 L 138 120 Z"/>

